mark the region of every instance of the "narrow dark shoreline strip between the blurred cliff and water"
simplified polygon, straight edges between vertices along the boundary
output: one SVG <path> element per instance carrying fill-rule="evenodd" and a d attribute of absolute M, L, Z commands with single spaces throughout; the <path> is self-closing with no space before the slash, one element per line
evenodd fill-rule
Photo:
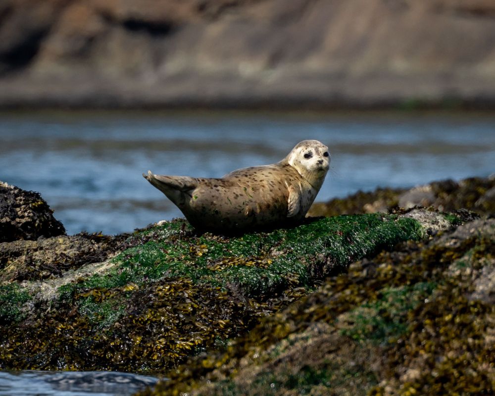
<path fill-rule="evenodd" d="M 305 99 L 218 99 L 201 100 L 118 100 L 110 98 L 89 98 L 70 100 L 69 98 L 40 98 L 31 100 L 0 99 L 0 114 L 6 111 L 144 111 L 144 112 L 233 112 L 233 113 L 482 113 L 495 114 L 495 97 L 474 100 L 377 100 L 370 102 L 345 100 L 305 100 Z"/>

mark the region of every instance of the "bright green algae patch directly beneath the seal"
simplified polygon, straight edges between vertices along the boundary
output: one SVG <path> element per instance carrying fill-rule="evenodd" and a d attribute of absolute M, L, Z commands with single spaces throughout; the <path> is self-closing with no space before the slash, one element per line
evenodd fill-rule
<path fill-rule="evenodd" d="M 126 249 L 114 258 L 117 265 L 110 273 L 79 287 L 115 288 L 177 276 L 223 288 L 236 284 L 247 295 L 262 296 L 289 286 L 311 288 L 315 280 L 355 259 L 419 239 L 421 228 L 412 219 L 368 214 L 319 219 L 293 229 L 237 238 L 169 236 Z"/>

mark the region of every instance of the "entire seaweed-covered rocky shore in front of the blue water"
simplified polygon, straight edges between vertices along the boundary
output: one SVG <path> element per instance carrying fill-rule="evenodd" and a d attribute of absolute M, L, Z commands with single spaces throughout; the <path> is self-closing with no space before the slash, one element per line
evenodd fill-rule
<path fill-rule="evenodd" d="M 1 224 L 29 207 L 43 231 L 0 243 L 1 369 L 170 378 L 142 395 L 493 392 L 493 178 L 358 193 L 238 237 L 183 219 L 44 235 L 46 202 L 2 188 Z"/>

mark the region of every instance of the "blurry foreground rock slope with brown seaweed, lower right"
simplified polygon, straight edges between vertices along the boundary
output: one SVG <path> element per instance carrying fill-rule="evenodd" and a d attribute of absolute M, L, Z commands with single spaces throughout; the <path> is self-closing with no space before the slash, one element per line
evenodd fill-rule
<path fill-rule="evenodd" d="M 402 243 L 139 395 L 492 394 L 494 269 L 493 218 Z"/>

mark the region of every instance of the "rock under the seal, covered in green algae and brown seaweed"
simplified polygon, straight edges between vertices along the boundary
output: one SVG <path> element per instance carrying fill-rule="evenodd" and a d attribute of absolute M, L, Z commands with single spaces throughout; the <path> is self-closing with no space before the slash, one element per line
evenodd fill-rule
<path fill-rule="evenodd" d="M 100 241 L 120 253 L 12 291 L 22 298 L 4 315 L 0 367 L 164 372 L 245 334 L 349 263 L 425 235 L 415 219 L 367 214 L 238 237 L 196 234 L 179 219 Z"/>

